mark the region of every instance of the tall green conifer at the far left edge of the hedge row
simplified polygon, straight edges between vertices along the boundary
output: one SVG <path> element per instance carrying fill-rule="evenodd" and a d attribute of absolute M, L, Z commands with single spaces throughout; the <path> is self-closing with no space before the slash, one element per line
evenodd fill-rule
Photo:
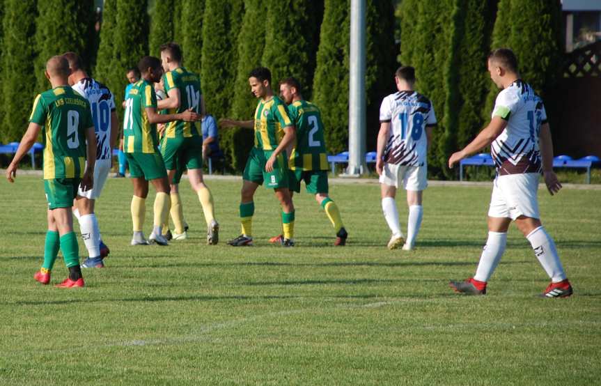
<path fill-rule="evenodd" d="M 36 97 L 36 0 L 4 0 L 0 141 L 19 141 Z M 49 88 L 49 85 L 46 87 Z"/>

